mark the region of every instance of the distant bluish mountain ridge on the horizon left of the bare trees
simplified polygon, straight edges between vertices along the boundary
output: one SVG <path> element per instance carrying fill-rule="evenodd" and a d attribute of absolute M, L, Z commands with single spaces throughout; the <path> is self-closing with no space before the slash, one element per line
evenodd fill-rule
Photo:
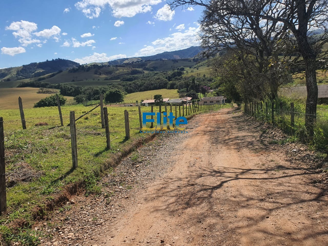
<path fill-rule="evenodd" d="M 184 59 L 184 58 L 192 58 L 198 55 L 199 52 L 203 51 L 200 46 L 192 46 L 184 50 L 178 51 L 165 51 L 163 53 L 159 53 L 156 55 L 150 56 L 140 56 L 140 57 L 132 57 L 132 58 L 122 58 L 114 61 L 109 61 L 109 65 L 120 65 L 124 63 L 131 63 L 136 61 L 149 61 L 149 60 L 159 60 L 159 59 Z"/>

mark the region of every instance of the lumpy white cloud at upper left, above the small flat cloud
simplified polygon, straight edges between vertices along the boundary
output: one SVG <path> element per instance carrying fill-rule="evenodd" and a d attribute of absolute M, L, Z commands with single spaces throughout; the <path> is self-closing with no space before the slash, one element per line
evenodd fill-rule
<path fill-rule="evenodd" d="M 15 38 L 19 38 L 18 41 L 23 46 L 28 46 L 32 43 L 40 43 L 41 41 L 38 39 L 32 39 L 32 31 L 37 30 L 37 24 L 34 22 L 29 21 L 16 21 L 12 22 L 8 27 L 5 28 L 6 30 L 14 31 L 12 34 Z"/>

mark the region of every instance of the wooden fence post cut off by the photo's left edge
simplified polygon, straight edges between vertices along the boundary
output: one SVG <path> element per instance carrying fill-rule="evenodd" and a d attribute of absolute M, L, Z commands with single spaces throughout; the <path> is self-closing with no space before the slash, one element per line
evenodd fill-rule
<path fill-rule="evenodd" d="M 5 167 L 5 136 L 3 118 L 0 117 L 0 213 L 7 210 L 6 167 Z"/>

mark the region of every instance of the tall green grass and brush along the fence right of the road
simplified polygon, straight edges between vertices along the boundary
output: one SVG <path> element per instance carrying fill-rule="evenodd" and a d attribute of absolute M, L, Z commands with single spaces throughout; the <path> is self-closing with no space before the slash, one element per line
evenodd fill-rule
<path fill-rule="evenodd" d="M 281 128 L 291 135 L 291 140 L 301 140 L 316 149 L 328 150 L 328 108 L 327 112 L 311 113 L 316 117 L 315 124 L 306 131 L 305 128 L 306 103 L 292 101 L 281 97 L 277 101 L 253 101 L 244 104 L 244 112 Z M 309 104 L 310 109 L 314 103 Z M 314 112 L 314 110 L 311 110 Z"/>

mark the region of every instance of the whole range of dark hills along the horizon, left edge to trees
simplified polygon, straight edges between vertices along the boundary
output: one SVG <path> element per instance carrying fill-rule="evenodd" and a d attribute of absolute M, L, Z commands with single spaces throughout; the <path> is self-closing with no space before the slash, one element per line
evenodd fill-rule
<path fill-rule="evenodd" d="M 33 62 L 20 67 L 1 69 L 0 88 L 17 87 L 22 83 L 32 81 L 101 86 L 117 82 L 126 75 L 168 72 L 180 67 L 191 72 L 200 59 L 197 55 L 201 50 L 199 46 L 193 46 L 152 56 L 124 58 L 103 63 L 93 62 L 85 65 L 60 58 L 39 63 Z"/>

